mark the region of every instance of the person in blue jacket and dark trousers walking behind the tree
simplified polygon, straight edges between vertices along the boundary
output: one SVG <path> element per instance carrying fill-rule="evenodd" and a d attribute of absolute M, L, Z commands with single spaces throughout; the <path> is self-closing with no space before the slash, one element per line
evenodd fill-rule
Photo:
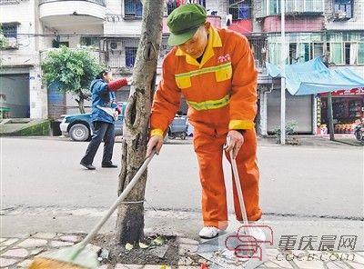
<path fill-rule="evenodd" d="M 92 94 L 92 124 L 94 134 L 91 142 L 87 146 L 86 154 L 80 164 L 88 170 L 95 170 L 92 164 L 101 142 L 104 140 L 104 154 L 101 166 L 104 168 L 116 168 L 111 158 L 115 143 L 115 121 L 121 113 L 120 107 L 116 103 L 115 92 L 123 86 L 130 85 L 131 81 L 126 78 L 113 79 L 110 71 L 103 70 L 96 75 L 96 79 L 91 82 L 90 90 Z"/>

